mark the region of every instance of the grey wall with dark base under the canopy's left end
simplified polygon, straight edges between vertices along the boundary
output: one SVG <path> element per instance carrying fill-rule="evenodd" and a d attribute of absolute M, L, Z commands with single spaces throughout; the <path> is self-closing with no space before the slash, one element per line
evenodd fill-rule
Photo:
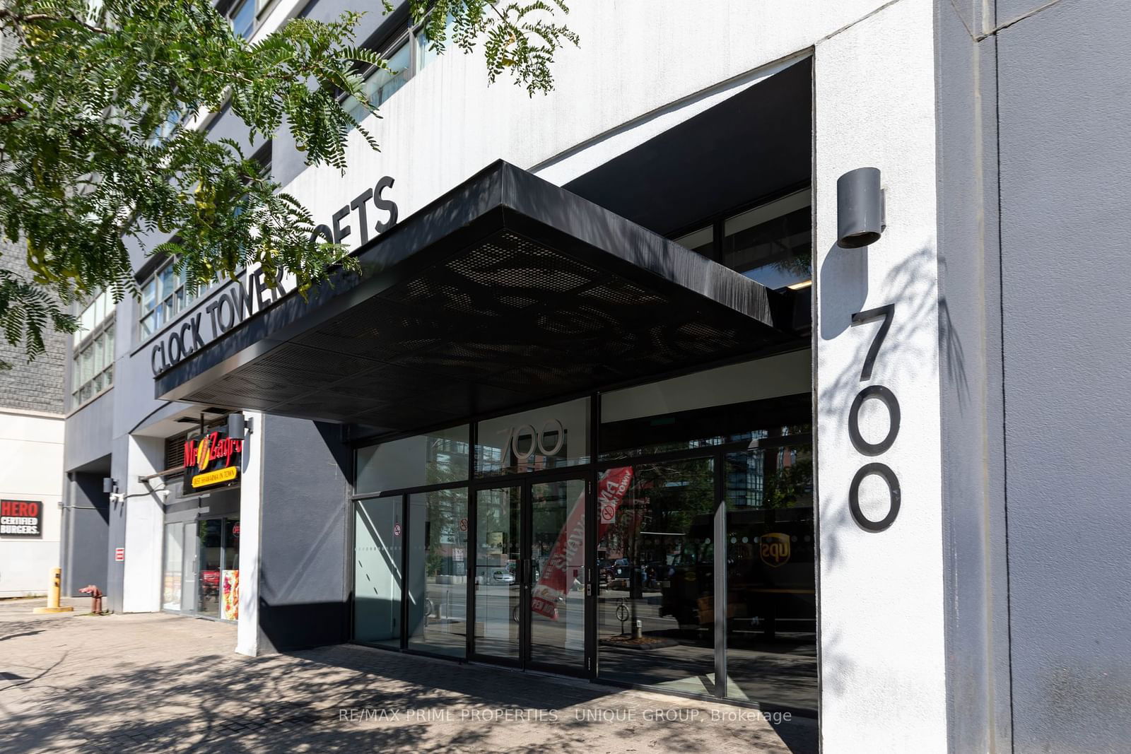
<path fill-rule="evenodd" d="M 349 465 L 340 427 L 264 421 L 259 626 L 266 647 L 349 638 Z"/>

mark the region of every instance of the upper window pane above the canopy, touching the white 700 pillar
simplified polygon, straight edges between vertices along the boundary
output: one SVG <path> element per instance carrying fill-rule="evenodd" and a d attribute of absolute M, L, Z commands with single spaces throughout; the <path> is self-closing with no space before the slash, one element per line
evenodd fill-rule
<path fill-rule="evenodd" d="M 723 224 L 723 263 L 784 288 L 812 279 L 810 191 L 796 191 L 731 217 Z"/>

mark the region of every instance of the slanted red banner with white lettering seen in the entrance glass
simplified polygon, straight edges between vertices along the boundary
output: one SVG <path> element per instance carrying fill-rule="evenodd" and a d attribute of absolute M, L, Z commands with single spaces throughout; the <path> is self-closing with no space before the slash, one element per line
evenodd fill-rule
<path fill-rule="evenodd" d="M 608 469 L 597 482 L 597 510 L 599 511 L 597 525 L 597 540 L 604 537 L 605 531 L 616 520 L 616 510 L 620 508 L 624 494 L 632 483 L 632 467 L 622 466 Z M 537 586 L 530 595 L 530 609 L 549 618 L 558 619 L 558 600 L 569 593 L 573 580 L 569 578 L 569 564 L 576 562 L 578 551 L 585 543 L 585 493 L 578 495 L 573 501 L 573 508 L 566 519 L 566 526 L 558 535 L 558 541 L 550 551 L 550 560 L 542 571 Z M 581 554 L 584 557 L 584 554 Z"/>

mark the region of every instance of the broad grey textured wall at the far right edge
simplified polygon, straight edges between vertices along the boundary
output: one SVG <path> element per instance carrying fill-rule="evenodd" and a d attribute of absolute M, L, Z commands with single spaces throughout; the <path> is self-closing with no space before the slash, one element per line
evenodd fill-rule
<path fill-rule="evenodd" d="M 1128 29 L 1131 3 L 1061 0 L 998 35 L 1018 752 L 1131 742 Z"/>

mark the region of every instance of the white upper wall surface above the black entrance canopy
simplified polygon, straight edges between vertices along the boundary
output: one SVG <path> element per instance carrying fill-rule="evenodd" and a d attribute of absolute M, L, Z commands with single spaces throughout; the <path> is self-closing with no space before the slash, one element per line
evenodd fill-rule
<path fill-rule="evenodd" d="M 344 175 L 328 166 L 309 168 L 285 190 L 312 210 L 317 223 L 329 224 L 337 209 L 382 175 L 396 179 L 383 196 L 397 202 L 402 220 L 499 158 L 566 182 L 737 94 L 772 72 L 775 63 L 795 59 L 882 5 L 575 3 L 566 21 L 580 34 L 581 46 L 560 51 L 549 95 L 528 97 L 502 78 L 487 86 L 482 54 L 452 46 L 382 105 L 381 118 L 366 119 L 380 153 L 355 132 Z M 284 6 L 274 12 L 284 12 Z M 378 219 L 385 213 L 370 208 L 369 223 Z M 343 220 L 353 231 L 346 245 L 360 242 L 357 222 L 356 211 Z"/>

